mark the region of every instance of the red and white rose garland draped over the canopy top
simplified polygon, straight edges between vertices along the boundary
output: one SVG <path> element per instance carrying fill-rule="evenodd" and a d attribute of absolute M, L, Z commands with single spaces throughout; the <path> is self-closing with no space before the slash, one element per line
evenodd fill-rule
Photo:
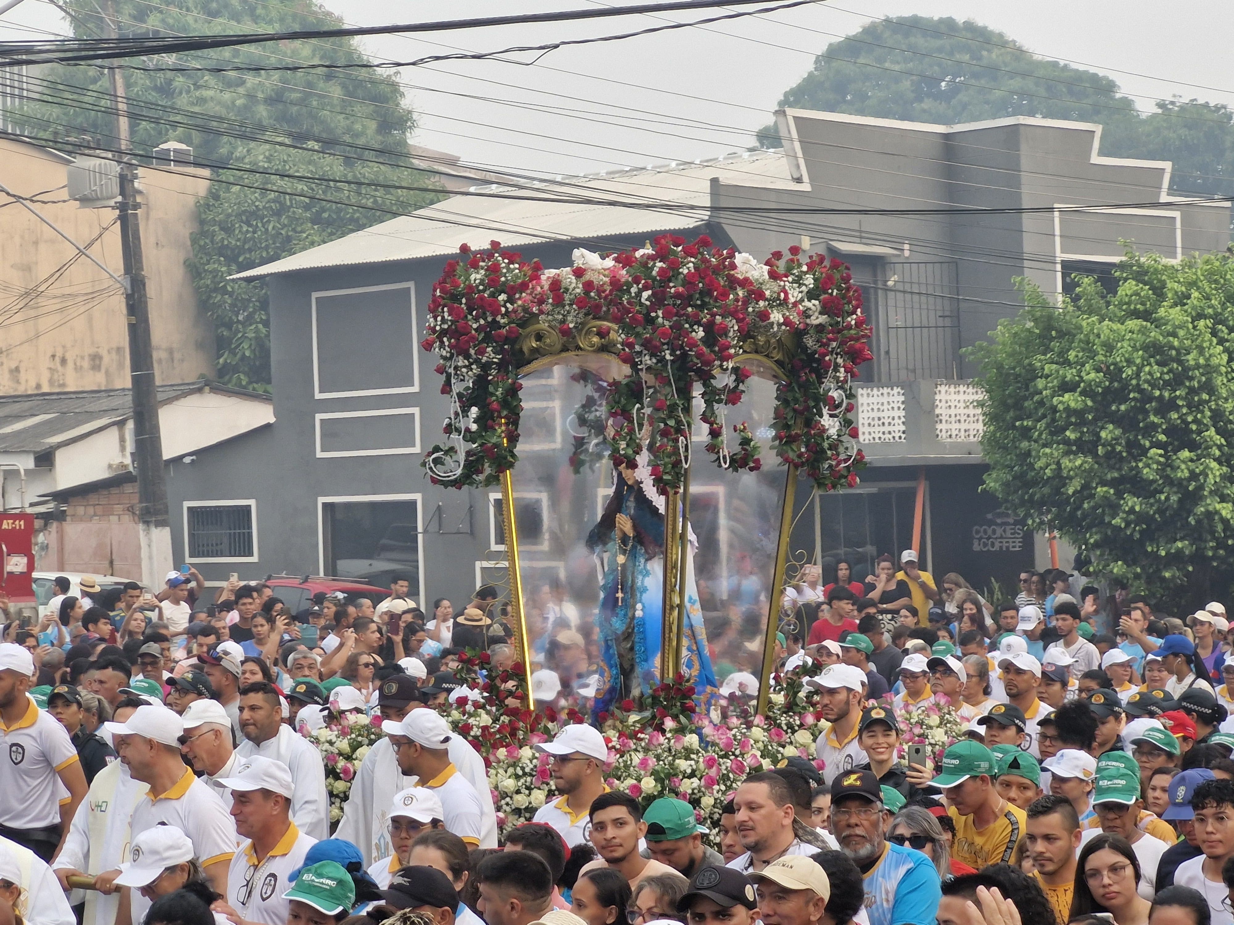
<path fill-rule="evenodd" d="M 776 454 L 824 490 L 856 483 L 864 464 L 851 421 L 851 379 L 871 359 L 861 294 L 840 261 L 776 252 L 765 263 L 733 248 L 664 234 L 654 247 L 608 257 L 575 250 L 574 265 L 544 270 L 492 249 L 445 264 L 428 305 L 427 337 L 450 395 L 444 433 L 423 465 L 434 483 L 485 486 L 517 461 L 516 348 L 527 338 L 615 353 L 631 374 L 610 384 L 608 443 L 616 465 L 647 450 L 661 493 L 679 490 L 691 455 L 695 395 L 706 449 L 722 469 L 758 470 L 744 422 L 726 434 L 750 370 L 743 353 L 787 358 L 776 390 Z M 781 265 L 781 261 L 782 265 Z M 557 348 L 554 348 L 557 349 Z M 465 444 L 471 444 L 468 448 Z M 576 454 L 578 458 L 578 454 Z"/>

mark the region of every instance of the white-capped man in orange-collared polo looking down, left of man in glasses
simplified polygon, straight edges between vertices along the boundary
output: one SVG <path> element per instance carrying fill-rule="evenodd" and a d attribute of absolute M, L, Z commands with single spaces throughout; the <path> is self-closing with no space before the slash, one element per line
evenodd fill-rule
<path fill-rule="evenodd" d="M 133 810 L 133 831 L 141 834 L 165 823 L 189 836 L 201 868 L 215 890 L 227 895 L 227 867 L 236 853 L 236 825 L 223 802 L 207 784 L 193 776 L 180 757 L 184 724 L 167 707 L 138 707 L 123 723 L 107 723 L 105 729 L 116 742 L 120 760 L 128 765 L 133 778 L 149 784 Z M 104 894 L 115 889 L 120 871 L 95 877 Z M 127 902 L 126 902 L 127 900 Z M 149 900 L 127 890 L 120 899 L 117 921 L 142 921 Z M 130 918 L 126 918 L 130 916 Z"/>

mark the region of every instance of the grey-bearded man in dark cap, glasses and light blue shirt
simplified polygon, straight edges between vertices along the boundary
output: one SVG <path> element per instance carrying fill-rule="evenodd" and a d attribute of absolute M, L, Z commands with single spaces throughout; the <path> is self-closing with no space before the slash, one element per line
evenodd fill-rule
<path fill-rule="evenodd" d="M 933 925 L 942 898 L 934 862 L 886 839 L 882 791 L 872 771 L 845 771 L 832 781 L 832 834 L 865 882 L 870 925 Z"/>

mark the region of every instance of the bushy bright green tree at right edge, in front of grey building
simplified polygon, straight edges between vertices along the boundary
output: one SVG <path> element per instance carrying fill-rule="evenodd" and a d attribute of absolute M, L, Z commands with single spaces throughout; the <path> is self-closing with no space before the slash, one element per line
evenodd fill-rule
<path fill-rule="evenodd" d="M 1234 259 L 1128 257 L 974 348 L 986 487 L 1182 608 L 1234 580 Z M 1180 610 L 1181 612 L 1181 610 Z"/>

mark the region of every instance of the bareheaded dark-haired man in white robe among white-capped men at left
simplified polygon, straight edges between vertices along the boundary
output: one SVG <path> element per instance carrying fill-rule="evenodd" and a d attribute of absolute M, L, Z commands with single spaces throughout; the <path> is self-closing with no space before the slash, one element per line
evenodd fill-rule
<path fill-rule="evenodd" d="M 259 681 L 241 689 L 239 729 L 244 734 L 244 741 L 236 746 L 236 755 L 242 761 L 260 755 L 286 765 L 296 782 L 291 818 L 305 835 L 318 841 L 328 839 L 326 766 L 321 752 L 283 722 L 283 704 L 274 684 Z"/>

